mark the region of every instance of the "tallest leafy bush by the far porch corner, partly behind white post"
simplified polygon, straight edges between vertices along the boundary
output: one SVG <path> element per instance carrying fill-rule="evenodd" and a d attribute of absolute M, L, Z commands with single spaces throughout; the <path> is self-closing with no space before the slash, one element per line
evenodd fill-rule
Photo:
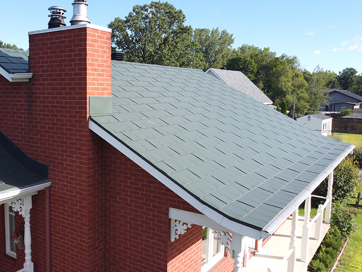
<path fill-rule="evenodd" d="M 357 184 L 360 182 L 359 166 L 354 157 L 345 158 L 334 170 L 333 201 L 346 202 L 353 196 Z M 326 178 L 315 190 L 316 194 L 327 195 L 328 178 Z"/>

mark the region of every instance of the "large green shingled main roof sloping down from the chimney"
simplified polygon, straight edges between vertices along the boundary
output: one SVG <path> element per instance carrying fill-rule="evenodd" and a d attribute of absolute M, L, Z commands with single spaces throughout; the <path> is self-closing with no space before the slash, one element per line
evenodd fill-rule
<path fill-rule="evenodd" d="M 112 65 L 113 114 L 91 120 L 196 199 L 254 229 L 352 148 L 202 71 Z"/>

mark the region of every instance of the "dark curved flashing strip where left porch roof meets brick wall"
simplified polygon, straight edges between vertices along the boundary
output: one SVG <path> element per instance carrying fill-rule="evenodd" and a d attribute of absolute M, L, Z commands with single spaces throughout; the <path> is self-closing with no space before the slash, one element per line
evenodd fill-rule
<path fill-rule="evenodd" d="M 49 166 L 37 162 L 26 155 L 17 145 L 15 145 L 4 133 L 0 130 L 0 145 L 16 159 L 20 164 L 27 168 L 32 173 L 48 179 Z"/>

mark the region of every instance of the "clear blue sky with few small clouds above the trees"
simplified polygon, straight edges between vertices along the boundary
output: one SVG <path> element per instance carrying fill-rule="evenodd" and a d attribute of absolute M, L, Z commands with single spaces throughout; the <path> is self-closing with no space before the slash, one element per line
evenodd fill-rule
<path fill-rule="evenodd" d="M 5 2 L 5 3 L 4 3 Z M 28 32 L 48 27 L 50 6 L 67 10 L 72 17 L 72 0 L 4 1 L 0 10 L 0 40 L 28 48 Z M 269 47 L 281 55 L 295 55 L 304 69 L 316 65 L 336 74 L 345 67 L 362 73 L 361 0 L 169 0 L 186 15 L 195 28 L 226 29 L 242 44 Z M 107 26 L 115 17 L 124 18 L 134 5 L 150 1 L 88 0 L 92 24 Z M 222 5 L 221 5 L 222 4 Z"/>

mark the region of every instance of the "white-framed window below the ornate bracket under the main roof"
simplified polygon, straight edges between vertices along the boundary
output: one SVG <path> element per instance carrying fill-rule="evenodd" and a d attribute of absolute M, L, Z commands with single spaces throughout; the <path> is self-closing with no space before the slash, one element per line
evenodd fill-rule
<path fill-rule="evenodd" d="M 224 246 L 217 239 L 217 232 L 211 228 L 203 227 L 202 241 L 202 267 L 201 271 L 207 271 L 224 256 Z"/>

